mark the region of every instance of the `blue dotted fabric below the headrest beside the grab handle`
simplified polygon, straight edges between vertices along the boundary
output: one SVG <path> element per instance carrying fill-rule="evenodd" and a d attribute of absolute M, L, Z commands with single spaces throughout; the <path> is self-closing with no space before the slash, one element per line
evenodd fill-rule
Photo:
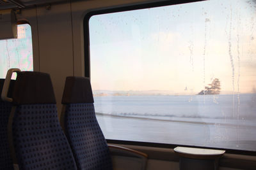
<path fill-rule="evenodd" d="M 77 169 L 56 104 L 20 104 L 12 125 L 19 169 Z"/>

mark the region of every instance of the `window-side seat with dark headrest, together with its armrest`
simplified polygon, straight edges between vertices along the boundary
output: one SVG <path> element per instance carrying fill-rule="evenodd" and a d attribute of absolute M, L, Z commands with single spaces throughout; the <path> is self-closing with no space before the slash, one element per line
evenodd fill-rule
<path fill-rule="evenodd" d="M 106 143 L 93 102 L 88 78 L 67 77 L 62 98 L 61 126 L 70 142 L 77 168 L 145 170 L 147 154 Z"/>

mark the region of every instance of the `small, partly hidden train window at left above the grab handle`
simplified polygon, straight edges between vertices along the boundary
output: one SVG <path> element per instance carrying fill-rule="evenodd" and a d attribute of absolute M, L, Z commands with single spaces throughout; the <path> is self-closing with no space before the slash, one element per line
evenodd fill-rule
<path fill-rule="evenodd" d="M 10 68 L 33 71 L 31 27 L 20 24 L 17 29 L 17 39 L 0 40 L 0 78 L 5 78 Z"/>

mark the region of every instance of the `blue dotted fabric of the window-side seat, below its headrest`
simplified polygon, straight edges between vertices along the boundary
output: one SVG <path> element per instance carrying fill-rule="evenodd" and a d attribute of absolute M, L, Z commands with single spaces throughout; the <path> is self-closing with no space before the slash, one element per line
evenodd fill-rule
<path fill-rule="evenodd" d="M 93 103 L 67 104 L 64 121 L 78 169 L 113 169 Z"/>

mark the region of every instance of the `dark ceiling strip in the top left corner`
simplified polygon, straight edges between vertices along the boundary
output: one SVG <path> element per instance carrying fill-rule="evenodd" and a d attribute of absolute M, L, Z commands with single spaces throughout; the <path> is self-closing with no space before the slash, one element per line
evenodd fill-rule
<path fill-rule="evenodd" d="M 33 5 L 61 3 L 68 0 L 0 0 L 0 10 L 7 10 L 10 8 L 27 8 Z"/>

